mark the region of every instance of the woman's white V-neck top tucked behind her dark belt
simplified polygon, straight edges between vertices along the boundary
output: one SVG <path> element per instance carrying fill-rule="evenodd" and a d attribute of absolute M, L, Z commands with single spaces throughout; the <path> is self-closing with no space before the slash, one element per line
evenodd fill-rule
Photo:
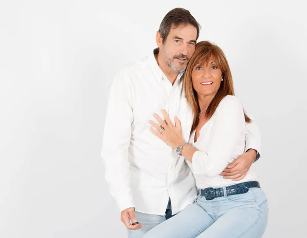
<path fill-rule="evenodd" d="M 198 188 L 222 187 L 256 180 L 252 168 L 240 181 L 232 181 L 219 175 L 229 163 L 245 152 L 247 133 L 242 103 L 235 96 L 226 96 L 201 128 L 196 142 L 195 131 L 191 134 L 189 144 L 198 151 L 194 153 L 192 163 L 187 163 Z"/>

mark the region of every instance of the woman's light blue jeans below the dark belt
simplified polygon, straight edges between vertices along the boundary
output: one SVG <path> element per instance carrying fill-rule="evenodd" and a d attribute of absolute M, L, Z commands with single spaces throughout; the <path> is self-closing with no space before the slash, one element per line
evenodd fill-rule
<path fill-rule="evenodd" d="M 259 238 L 264 234 L 267 222 L 267 197 L 261 188 L 254 187 L 246 194 L 209 201 L 199 194 L 193 204 L 143 237 Z"/>

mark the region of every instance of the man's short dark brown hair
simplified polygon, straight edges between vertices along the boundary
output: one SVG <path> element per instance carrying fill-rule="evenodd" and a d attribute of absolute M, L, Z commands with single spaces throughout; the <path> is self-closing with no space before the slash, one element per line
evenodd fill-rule
<path fill-rule="evenodd" d="M 163 38 L 162 43 L 165 42 L 172 27 L 177 28 L 179 25 L 182 24 L 190 24 L 195 27 L 197 30 L 196 40 L 199 38 L 201 26 L 191 15 L 191 13 L 184 8 L 174 8 L 170 10 L 161 21 L 159 32 L 161 37 Z"/>

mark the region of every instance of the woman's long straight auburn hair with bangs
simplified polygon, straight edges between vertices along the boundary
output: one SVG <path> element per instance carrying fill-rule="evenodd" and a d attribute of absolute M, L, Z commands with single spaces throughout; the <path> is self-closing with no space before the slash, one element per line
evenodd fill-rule
<path fill-rule="evenodd" d="M 215 97 L 211 101 L 209 107 L 206 110 L 206 116 L 211 117 L 216 110 L 218 104 L 222 101 L 222 99 L 227 95 L 234 95 L 232 76 L 230 72 L 230 68 L 227 62 L 227 59 L 221 50 L 215 44 L 210 43 L 209 41 L 201 41 L 196 44 L 195 52 L 192 55 L 188 66 L 185 70 L 183 87 L 186 94 L 186 99 L 190 107 L 192 108 L 194 120 L 191 132 L 195 130 L 196 126 L 199 123 L 199 113 L 200 106 L 198 103 L 197 92 L 193 88 L 192 83 L 192 70 L 197 64 L 204 65 L 208 63 L 210 58 L 214 58 L 217 64 L 217 67 L 222 71 L 222 77 L 224 81 L 221 82 L 220 88 L 218 88 Z M 245 121 L 250 123 L 252 120 L 246 115 L 244 112 Z"/>

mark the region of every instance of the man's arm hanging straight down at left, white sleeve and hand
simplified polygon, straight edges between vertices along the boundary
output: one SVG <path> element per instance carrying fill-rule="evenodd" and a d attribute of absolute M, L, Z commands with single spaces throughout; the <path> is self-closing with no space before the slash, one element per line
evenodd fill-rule
<path fill-rule="evenodd" d="M 141 224 L 130 224 L 130 219 L 132 222 L 137 220 L 130 188 L 128 160 L 134 117 L 130 79 L 126 75 L 118 74 L 109 91 L 101 155 L 105 166 L 105 179 L 121 211 L 122 222 L 128 229 L 139 229 Z"/>

